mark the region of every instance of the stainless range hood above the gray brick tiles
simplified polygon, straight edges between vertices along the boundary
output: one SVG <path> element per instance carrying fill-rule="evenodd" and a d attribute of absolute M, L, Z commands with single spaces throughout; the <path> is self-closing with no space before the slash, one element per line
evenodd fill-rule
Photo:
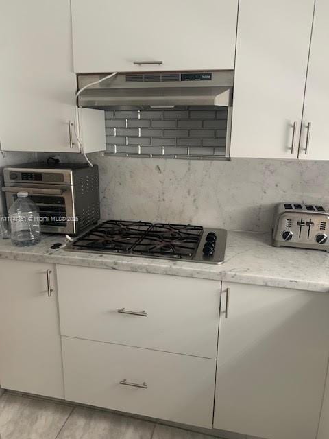
<path fill-rule="evenodd" d="M 78 87 L 107 76 L 78 75 Z M 86 88 L 78 105 L 88 108 L 117 106 L 173 107 L 232 106 L 234 71 L 118 73 Z"/>

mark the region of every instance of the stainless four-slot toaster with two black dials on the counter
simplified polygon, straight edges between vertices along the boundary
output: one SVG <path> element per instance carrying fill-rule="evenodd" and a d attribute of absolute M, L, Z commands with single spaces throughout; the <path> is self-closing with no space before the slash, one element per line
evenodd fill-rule
<path fill-rule="evenodd" d="M 280 203 L 273 222 L 273 246 L 329 252 L 329 211 L 320 204 Z"/>

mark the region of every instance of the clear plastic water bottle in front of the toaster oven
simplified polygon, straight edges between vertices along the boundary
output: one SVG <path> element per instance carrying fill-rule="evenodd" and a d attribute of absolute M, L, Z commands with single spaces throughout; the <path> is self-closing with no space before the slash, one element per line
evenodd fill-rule
<path fill-rule="evenodd" d="M 17 193 L 17 199 L 8 210 L 10 237 L 14 246 L 32 246 L 41 239 L 38 206 L 28 198 L 27 192 Z"/>

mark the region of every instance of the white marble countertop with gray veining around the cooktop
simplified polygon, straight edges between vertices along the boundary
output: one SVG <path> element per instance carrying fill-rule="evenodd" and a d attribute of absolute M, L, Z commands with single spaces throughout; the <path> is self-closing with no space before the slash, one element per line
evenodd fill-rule
<path fill-rule="evenodd" d="M 42 235 L 40 244 L 32 247 L 15 247 L 10 239 L 0 239 L 0 257 L 329 292 L 329 253 L 275 248 L 263 233 L 229 231 L 221 265 L 51 250 L 55 242 L 64 243 L 64 237 Z"/>

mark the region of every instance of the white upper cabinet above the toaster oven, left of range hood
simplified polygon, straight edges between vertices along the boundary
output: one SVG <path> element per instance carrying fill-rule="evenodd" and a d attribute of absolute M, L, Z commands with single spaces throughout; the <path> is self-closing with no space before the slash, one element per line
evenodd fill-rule
<path fill-rule="evenodd" d="M 0 59 L 2 149 L 79 152 L 69 127 L 77 87 L 70 1 L 0 0 Z M 95 111 L 104 125 L 103 112 Z M 101 123 L 94 123 L 88 140 L 99 130 Z M 96 144 L 97 150 L 104 149 L 105 135 Z M 86 152 L 95 150 L 95 143 L 84 147 Z"/>

